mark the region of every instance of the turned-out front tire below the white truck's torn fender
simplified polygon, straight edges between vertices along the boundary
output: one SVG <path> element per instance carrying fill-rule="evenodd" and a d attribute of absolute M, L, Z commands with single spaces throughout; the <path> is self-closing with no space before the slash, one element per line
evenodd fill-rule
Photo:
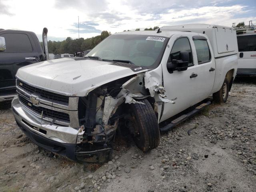
<path fill-rule="evenodd" d="M 132 134 L 138 148 L 147 152 L 156 148 L 160 142 L 160 130 L 156 114 L 147 99 L 144 104 L 130 104 Z"/>

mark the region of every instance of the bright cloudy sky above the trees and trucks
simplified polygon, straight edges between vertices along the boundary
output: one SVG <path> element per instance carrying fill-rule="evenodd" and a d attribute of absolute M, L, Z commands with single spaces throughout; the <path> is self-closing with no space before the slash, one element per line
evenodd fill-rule
<path fill-rule="evenodd" d="M 232 26 L 252 20 L 256 0 L 0 0 L 0 28 L 33 31 L 42 40 L 88 38 L 102 30 L 207 23 Z"/>

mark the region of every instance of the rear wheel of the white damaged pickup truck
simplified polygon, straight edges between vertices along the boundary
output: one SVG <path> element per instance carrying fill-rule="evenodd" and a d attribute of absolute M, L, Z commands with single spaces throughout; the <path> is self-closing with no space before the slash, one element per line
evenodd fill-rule
<path fill-rule="evenodd" d="M 222 87 L 220 90 L 214 94 L 212 94 L 213 101 L 216 103 L 226 103 L 228 100 L 228 92 L 229 92 L 229 82 L 228 79 L 225 78 Z"/>

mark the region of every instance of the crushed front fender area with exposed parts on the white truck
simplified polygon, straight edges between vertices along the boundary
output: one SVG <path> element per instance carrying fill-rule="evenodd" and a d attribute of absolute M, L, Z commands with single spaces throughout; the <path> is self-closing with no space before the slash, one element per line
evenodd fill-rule
<path fill-rule="evenodd" d="M 117 129 L 128 129 L 128 104 L 144 104 L 141 99 L 148 98 L 160 120 L 163 102 L 167 100 L 161 78 L 152 72 L 128 76 L 104 84 L 78 101 L 78 115 L 81 130 L 84 131 L 81 148 L 76 152 L 80 161 L 107 160 L 112 154 L 112 141 Z M 130 132 L 134 130 L 130 128 Z M 88 148 L 90 149 L 88 151 Z"/>

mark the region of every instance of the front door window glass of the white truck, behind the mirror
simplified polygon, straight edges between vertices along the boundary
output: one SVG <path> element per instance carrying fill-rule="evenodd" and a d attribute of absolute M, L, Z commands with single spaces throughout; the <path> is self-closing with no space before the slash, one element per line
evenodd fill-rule
<path fill-rule="evenodd" d="M 191 52 L 191 47 L 188 38 L 182 37 L 176 40 L 174 42 L 174 45 L 172 46 L 172 50 L 170 52 L 168 62 L 172 62 L 173 59 L 180 60 L 180 51 L 187 51 L 189 54 L 189 62 L 188 66 L 193 66 L 193 58 L 192 58 L 192 52 Z"/>

